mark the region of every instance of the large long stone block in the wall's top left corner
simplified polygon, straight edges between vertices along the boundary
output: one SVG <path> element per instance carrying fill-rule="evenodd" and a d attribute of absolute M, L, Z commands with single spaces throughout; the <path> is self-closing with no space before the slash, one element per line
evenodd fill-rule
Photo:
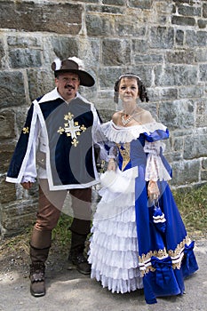
<path fill-rule="evenodd" d="M 0 2 L 0 28 L 77 35 L 83 6 L 36 2 Z"/>

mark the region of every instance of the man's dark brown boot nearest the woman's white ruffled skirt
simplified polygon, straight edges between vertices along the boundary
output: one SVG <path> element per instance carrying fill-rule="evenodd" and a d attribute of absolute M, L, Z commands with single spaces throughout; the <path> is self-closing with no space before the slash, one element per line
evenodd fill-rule
<path fill-rule="evenodd" d="M 68 256 L 68 270 L 76 267 L 77 271 L 83 275 L 91 274 L 91 265 L 84 256 L 84 243 L 87 235 L 78 235 L 72 232 L 71 248 Z"/>

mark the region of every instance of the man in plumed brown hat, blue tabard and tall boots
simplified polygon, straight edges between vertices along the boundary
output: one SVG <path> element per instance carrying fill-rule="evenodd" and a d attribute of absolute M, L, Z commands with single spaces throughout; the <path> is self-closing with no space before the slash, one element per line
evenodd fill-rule
<path fill-rule="evenodd" d="M 29 108 L 6 177 L 6 181 L 30 189 L 38 176 L 39 207 L 30 240 L 30 291 L 35 297 L 45 294 L 44 269 L 52 229 L 68 190 L 74 211 L 69 259 L 79 272 L 91 272 L 84 243 L 91 229 L 92 185 L 99 181 L 94 146 L 100 117 L 93 104 L 78 93 L 79 85 L 94 84 L 83 65 L 76 57 L 54 60 L 56 88 Z"/>

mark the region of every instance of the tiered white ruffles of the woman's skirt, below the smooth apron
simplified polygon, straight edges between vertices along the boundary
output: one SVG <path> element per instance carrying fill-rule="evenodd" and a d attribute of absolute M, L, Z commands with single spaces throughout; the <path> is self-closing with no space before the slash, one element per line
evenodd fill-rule
<path fill-rule="evenodd" d="M 97 217 L 96 212 L 93 220 L 88 259 L 92 264 L 91 277 L 112 292 L 143 288 L 134 206 L 110 219 L 97 220 L 100 209 L 98 214 Z"/>

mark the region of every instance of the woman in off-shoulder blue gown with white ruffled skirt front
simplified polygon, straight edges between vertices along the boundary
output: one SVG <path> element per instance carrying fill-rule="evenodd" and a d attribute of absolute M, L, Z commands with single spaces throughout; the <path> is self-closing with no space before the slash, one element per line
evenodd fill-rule
<path fill-rule="evenodd" d="M 102 124 L 110 148 L 101 177 L 101 200 L 94 214 L 89 262 L 92 278 L 112 292 L 144 287 L 147 303 L 184 292 L 184 278 L 198 267 L 167 180 L 163 157 L 167 128 L 137 106 L 148 101 L 139 76 L 125 74 L 115 83 L 123 110 Z M 117 163 L 117 167 L 116 167 Z"/>

